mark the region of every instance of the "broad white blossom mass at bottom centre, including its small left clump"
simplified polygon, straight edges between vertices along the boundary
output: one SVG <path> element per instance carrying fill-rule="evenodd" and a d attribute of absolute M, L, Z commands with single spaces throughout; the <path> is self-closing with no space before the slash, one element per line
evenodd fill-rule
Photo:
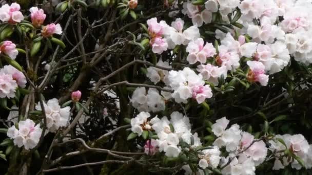
<path fill-rule="evenodd" d="M 152 130 L 159 139 L 152 140 L 145 145 L 145 152 L 154 155 L 155 152 L 165 152 L 168 157 L 178 157 L 181 152 L 180 141 L 191 144 L 191 138 L 194 143 L 192 146 L 200 146 L 201 142 L 197 133 L 191 133 L 191 124 L 188 117 L 179 112 L 173 112 L 170 120 L 164 116 L 161 119 L 157 116 L 150 119 L 150 114 L 141 112 L 138 116 L 131 119 L 131 130 L 133 133 L 142 135 L 144 130 Z M 170 126 L 171 125 L 171 126 Z"/>

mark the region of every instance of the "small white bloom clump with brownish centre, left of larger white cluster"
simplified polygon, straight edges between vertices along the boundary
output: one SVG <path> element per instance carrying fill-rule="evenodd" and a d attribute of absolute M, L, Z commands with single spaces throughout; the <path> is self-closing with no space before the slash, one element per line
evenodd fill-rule
<path fill-rule="evenodd" d="M 149 117 L 150 117 L 149 113 L 141 112 L 135 118 L 131 119 L 132 132 L 141 136 L 143 133 L 143 130 L 150 130 L 151 126 L 149 122 L 147 121 L 147 118 Z"/>

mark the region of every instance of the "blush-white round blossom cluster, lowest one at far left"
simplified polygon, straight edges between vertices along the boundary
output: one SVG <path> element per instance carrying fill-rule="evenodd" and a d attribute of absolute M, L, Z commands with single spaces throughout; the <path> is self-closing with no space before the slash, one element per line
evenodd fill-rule
<path fill-rule="evenodd" d="M 24 146 L 25 149 L 34 148 L 41 137 L 42 129 L 40 125 L 36 125 L 32 120 L 26 119 L 25 121 L 18 122 L 18 129 L 12 126 L 8 129 L 8 137 L 14 139 L 14 145 L 18 147 Z"/>

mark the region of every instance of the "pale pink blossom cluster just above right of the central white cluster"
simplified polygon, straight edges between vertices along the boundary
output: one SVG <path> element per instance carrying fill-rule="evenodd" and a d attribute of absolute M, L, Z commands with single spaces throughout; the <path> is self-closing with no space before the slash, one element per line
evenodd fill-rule
<path fill-rule="evenodd" d="M 202 74 L 205 80 L 213 83 L 214 85 L 218 85 L 218 78 L 221 77 L 221 75 L 223 75 L 224 78 L 226 78 L 227 75 L 227 69 L 224 66 L 218 67 L 211 64 L 198 65 L 197 71 Z"/>

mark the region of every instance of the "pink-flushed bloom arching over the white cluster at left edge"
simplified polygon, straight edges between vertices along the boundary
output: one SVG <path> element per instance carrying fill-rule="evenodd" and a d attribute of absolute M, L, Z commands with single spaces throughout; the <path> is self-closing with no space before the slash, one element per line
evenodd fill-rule
<path fill-rule="evenodd" d="M 12 75 L 13 80 L 16 81 L 19 87 L 26 87 L 27 80 L 25 75 L 21 71 L 12 67 L 12 65 L 5 65 L 4 68 L 0 70 L 0 73 Z"/>

